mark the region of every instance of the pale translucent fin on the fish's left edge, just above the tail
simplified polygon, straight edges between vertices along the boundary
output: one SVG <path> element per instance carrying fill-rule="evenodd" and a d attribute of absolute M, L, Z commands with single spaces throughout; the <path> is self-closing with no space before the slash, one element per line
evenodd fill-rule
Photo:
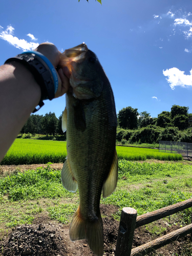
<path fill-rule="evenodd" d="M 77 181 L 72 173 L 68 159 L 66 159 L 61 170 L 61 181 L 63 187 L 65 187 L 67 190 L 72 192 L 77 190 Z"/>

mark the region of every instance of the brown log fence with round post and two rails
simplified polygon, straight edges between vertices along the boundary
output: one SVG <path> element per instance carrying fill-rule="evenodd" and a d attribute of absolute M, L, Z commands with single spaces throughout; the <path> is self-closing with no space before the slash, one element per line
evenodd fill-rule
<path fill-rule="evenodd" d="M 179 228 L 173 232 L 157 238 L 144 245 L 132 249 L 135 228 L 141 227 L 153 221 L 157 221 L 178 211 L 192 207 L 192 199 L 164 207 L 159 210 L 148 212 L 137 217 L 137 211 L 133 208 L 126 207 L 122 209 L 119 223 L 119 232 L 115 256 L 141 256 L 146 255 L 162 246 L 172 243 L 178 238 L 186 236 L 192 232 L 192 224 Z"/>

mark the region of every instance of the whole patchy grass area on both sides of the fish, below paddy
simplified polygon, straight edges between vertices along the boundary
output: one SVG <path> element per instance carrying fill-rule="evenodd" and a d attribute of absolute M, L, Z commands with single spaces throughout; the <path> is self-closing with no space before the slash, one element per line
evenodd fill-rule
<path fill-rule="evenodd" d="M 102 204 L 133 207 L 138 215 L 192 196 L 192 166 L 182 163 L 147 163 L 119 160 L 119 178 L 115 192 Z M 71 222 L 78 205 L 78 191 L 71 193 L 60 182 L 60 170 L 28 170 L 0 180 L 0 231 L 30 224 L 40 214 L 61 223 Z M 181 222 L 190 223 L 189 210 L 179 214 Z"/>

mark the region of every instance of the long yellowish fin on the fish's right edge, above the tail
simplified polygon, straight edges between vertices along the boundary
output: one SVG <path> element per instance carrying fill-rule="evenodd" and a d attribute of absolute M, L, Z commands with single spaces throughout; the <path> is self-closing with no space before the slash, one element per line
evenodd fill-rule
<path fill-rule="evenodd" d="M 103 184 L 103 198 L 109 197 L 113 193 L 113 191 L 117 186 L 117 177 L 118 177 L 118 159 L 117 159 L 117 152 L 115 150 L 110 173 L 108 175 L 108 178 L 105 180 Z"/>

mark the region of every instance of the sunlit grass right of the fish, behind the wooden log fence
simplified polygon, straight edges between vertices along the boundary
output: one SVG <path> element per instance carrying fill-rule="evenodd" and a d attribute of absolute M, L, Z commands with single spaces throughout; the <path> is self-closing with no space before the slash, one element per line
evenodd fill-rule
<path fill-rule="evenodd" d="M 180 163 L 119 161 L 119 181 L 105 204 L 135 208 L 138 215 L 187 200 L 192 196 L 192 168 Z M 139 187 L 139 189 L 138 189 Z M 117 214 L 120 218 L 120 212 Z"/>

